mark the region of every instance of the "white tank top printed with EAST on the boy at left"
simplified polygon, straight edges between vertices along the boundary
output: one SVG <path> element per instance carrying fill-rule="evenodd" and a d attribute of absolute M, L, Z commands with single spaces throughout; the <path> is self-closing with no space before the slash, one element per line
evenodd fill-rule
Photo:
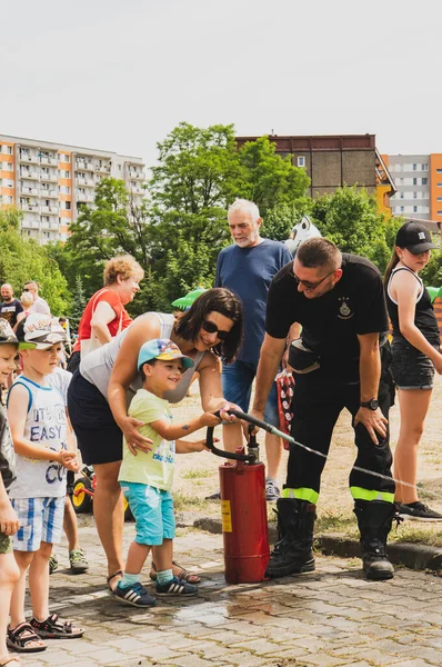
<path fill-rule="evenodd" d="M 67 448 L 64 400 L 58 389 L 41 387 L 24 376 L 12 385 L 28 390 L 28 416 L 24 437 L 33 445 L 60 451 Z M 11 498 L 59 498 L 66 494 L 67 469 L 50 460 L 17 455 L 17 479 L 11 485 Z"/>

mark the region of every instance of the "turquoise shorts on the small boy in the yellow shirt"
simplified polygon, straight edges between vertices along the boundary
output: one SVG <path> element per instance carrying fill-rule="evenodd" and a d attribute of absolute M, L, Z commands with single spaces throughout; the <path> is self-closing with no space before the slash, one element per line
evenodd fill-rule
<path fill-rule="evenodd" d="M 157 547 L 163 539 L 175 536 L 173 499 L 170 491 L 135 481 L 120 481 L 133 518 L 135 519 L 135 542 Z"/>

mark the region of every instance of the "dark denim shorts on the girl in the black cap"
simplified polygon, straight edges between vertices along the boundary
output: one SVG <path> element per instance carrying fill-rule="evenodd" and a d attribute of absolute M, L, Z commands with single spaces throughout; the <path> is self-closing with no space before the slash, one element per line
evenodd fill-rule
<path fill-rule="evenodd" d="M 391 352 L 391 372 L 399 389 L 433 388 L 434 366 L 426 355 L 402 340 L 393 340 Z"/>

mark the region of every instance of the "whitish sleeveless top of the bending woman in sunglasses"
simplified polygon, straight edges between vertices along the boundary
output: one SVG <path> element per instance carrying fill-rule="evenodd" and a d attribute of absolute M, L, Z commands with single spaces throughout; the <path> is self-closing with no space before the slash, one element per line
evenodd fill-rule
<path fill-rule="evenodd" d="M 140 315 L 137 320 L 141 317 L 147 317 L 148 315 L 154 315 L 160 322 L 160 336 L 159 338 L 170 338 L 172 335 L 172 329 L 174 325 L 173 315 L 165 312 L 144 312 Z M 137 321 L 135 320 L 135 321 Z M 115 359 L 118 352 L 120 350 L 121 344 L 124 340 L 128 331 L 130 330 L 130 326 L 121 331 L 118 336 L 112 338 L 110 342 L 107 342 L 101 348 L 93 350 L 90 352 L 84 359 L 82 359 L 80 364 L 80 372 L 88 382 L 91 382 L 99 391 L 108 399 L 108 386 L 109 379 L 112 372 L 112 368 L 115 364 Z M 189 368 L 185 372 L 183 372 L 181 380 L 177 385 L 177 388 L 172 391 L 167 391 L 164 394 L 164 398 L 171 402 L 177 404 L 182 400 L 190 387 L 190 382 L 192 380 L 193 372 L 197 370 L 201 359 L 203 358 L 204 352 L 197 352 L 195 358 L 193 359 L 193 368 Z M 129 391 L 128 391 L 128 405 L 130 404 L 133 396 L 137 394 L 139 389 L 141 389 L 141 376 L 137 372 L 133 378 Z"/>

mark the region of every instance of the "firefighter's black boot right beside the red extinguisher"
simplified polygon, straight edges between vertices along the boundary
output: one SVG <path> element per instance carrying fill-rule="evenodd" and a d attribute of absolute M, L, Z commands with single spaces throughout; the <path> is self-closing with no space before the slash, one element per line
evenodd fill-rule
<path fill-rule="evenodd" d="M 317 506 L 297 498 L 277 501 L 279 541 L 270 556 L 268 577 L 287 577 L 314 570 L 313 526 Z"/>

